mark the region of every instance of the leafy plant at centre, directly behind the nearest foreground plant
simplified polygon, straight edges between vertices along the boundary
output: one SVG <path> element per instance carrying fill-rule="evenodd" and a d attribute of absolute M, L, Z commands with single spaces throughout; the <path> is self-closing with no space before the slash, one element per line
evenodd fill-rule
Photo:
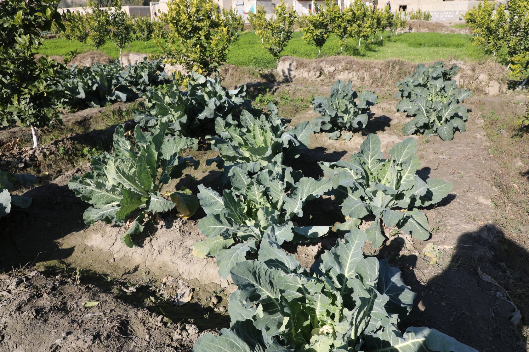
<path fill-rule="evenodd" d="M 282 166 L 281 157 L 277 155 L 253 176 L 234 166 L 231 169 L 233 189 L 225 190 L 222 195 L 198 186 L 200 205 L 207 214 L 198 223 L 198 229 L 207 239 L 193 245 L 193 254 L 216 256 L 219 273 L 224 278 L 235 263 L 257 253 L 263 232 L 271 226 L 285 226 L 277 234 L 282 240 L 292 240 L 294 233 L 310 238 L 330 230 L 330 226 L 296 227 L 290 219 L 303 216 L 306 201 L 329 191 L 331 179 L 302 177 L 295 182 L 296 173 Z"/>

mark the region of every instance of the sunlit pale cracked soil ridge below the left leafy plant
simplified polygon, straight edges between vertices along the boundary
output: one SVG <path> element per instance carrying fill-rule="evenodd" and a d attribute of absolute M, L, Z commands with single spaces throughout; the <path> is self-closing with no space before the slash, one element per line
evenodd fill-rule
<path fill-rule="evenodd" d="M 97 269 L 126 273 L 151 272 L 157 276 L 169 274 L 186 280 L 194 287 L 204 284 L 227 287 L 228 281 L 218 275 L 213 258 L 197 258 L 193 255 L 193 243 L 205 237 L 198 232 L 197 221 L 182 220 L 170 214 L 156 224 L 149 224 L 147 233 L 156 234 L 140 240 L 140 248 L 128 248 L 119 238 L 126 229 L 102 222 L 73 232 L 63 238 L 61 246 L 75 248 L 66 260 L 70 263 L 93 265 L 98 258 Z M 96 269 L 96 268 L 94 268 Z"/>

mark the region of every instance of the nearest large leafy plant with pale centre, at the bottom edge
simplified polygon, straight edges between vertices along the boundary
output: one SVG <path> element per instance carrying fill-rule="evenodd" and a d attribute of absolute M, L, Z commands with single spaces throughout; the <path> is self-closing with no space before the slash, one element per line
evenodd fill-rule
<path fill-rule="evenodd" d="M 352 230 L 322 255 L 319 274 L 309 274 L 287 255 L 271 227 L 258 260 L 231 270 L 239 287 L 230 297 L 230 329 L 200 337 L 194 352 L 239 351 L 392 351 L 476 352 L 428 328 L 408 328 L 400 319 L 411 310 L 415 293 L 387 260 L 363 258 L 367 236 Z"/>

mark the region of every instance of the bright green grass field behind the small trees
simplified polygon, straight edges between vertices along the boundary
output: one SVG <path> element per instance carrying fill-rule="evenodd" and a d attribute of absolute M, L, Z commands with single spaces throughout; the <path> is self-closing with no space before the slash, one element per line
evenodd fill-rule
<path fill-rule="evenodd" d="M 304 59 L 316 58 L 317 47 L 305 43 L 302 35 L 301 32 L 295 32 L 283 54 Z M 93 50 L 88 45 L 78 42 L 52 39 L 44 42 L 40 48 L 40 53 L 50 56 L 65 55 L 74 49 L 80 52 Z M 117 47 L 110 42 L 103 45 L 100 50 L 113 58 L 117 58 L 119 55 Z M 147 43 L 132 42 L 124 52 L 161 53 L 153 40 Z M 472 45 L 472 37 L 468 34 L 404 33 L 390 36 L 389 32 L 382 34 L 382 40 L 378 34 L 375 41 L 363 42 L 360 47 L 358 47 L 357 40 L 350 40 L 344 46 L 343 52 L 340 52 L 338 37 L 332 35 L 323 46 L 321 55 L 323 57 L 350 55 L 366 60 L 398 58 L 415 63 L 446 59 L 479 61 L 486 58 L 480 47 Z M 259 37 L 254 32 L 244 33 L 238 41 L 232 44 L 227 56 L 227 63 L 263 69 L 276 67 L 275 60 L 263 49 Z"/>

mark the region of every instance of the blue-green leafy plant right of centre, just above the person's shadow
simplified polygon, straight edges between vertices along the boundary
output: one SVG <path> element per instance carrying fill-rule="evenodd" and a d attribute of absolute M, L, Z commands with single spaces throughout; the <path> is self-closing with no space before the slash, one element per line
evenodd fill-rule
<path fill-rule="evenodd" d="M 320 163 L 325 174 L 333 177 L 333 193 L 345 216 L 375 216 L 366 231 L 375 248 L 385 240 L 382 221 L 419 240 L 428 239 L 428 220 L 416 208 L 439 203 L 452 190 L 451 183 L 441 179 L 424 182 L 416 174 L 421 167 L 416 150 L 416 141 L 407 138 L 389 150 L 389 159 L 382 159 L 380 139 L 370 134 L 350 161 Z"/>

